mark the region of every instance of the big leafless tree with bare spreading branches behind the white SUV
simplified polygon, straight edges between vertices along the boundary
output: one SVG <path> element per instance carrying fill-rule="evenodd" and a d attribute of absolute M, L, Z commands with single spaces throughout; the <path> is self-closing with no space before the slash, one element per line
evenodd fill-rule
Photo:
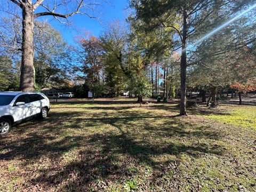
<path fill-rule="evenodd" d="M 95 0 L 9 0 L 18 6 L 22 12 L 22 42 L 21 42 L 21 74 L 20 90 L 35 90 L 35 68 L 33 63 L 34 49 L 34 26 L 35 19 L 50 15 L 63 23 L 75 14 L 84 14 L 94 18 L 95 6 L 100 5 Z M 103 0 L 101 0 L 103 1 Z M 101 2 L 99 0 L 99 2 Z M 36 12 L 40 10 L 42 12 Z M 7 12 L 7 11 L 6 11 Z M 10 11 L 9 11 L 10 13 Z"/>

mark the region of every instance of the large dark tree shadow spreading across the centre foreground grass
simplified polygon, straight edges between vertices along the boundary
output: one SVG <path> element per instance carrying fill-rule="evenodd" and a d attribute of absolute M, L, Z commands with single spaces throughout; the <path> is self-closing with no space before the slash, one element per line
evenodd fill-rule
<path fill-rule="evenodd" d="M 156 156 L 179 157 L 180 154 L 187 154 L 197 157 L 201 154 L 222 153 L 219 146 L 207 146 L 202 143 L 185 145 L 169 142 L 167 145 L 149 145 L 145 141 L 136 141 L 132 135 L 120 131 L 120 134 L 93 134 L 87 145 L 97 149 L 99 147 L 99 150 L 81 150 L 79 159 L 71 161 L 61 169 L 57 166 L 42 170 L 31 184 L 41 183 L 47 188 L 60 185 L 60 190 L 87 191 L 93 188 L 103 191 L 109 183 L 132 178 L 136 173 L 129 170 L 129 165 L 144 164 L 152 167 L 154 171 L 161 171 L 159 164 L 162 162 L 155 161 Z M 119 159 L 120 157 L 123 159 Z M 170 164 L 170 161 L 167 163 Z"/>

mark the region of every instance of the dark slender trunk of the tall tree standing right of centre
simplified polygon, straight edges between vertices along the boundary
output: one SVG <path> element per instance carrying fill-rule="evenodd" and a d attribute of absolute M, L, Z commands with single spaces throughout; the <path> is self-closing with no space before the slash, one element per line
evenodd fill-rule
<path fill-rule="evenodd" d="M 187 76 L 187 12 L 183 11 L 183 33 L 182 33 L 182 53 L 180 62 L 180 115 L 187 115 L 186 108 L 186 76 Z"/>

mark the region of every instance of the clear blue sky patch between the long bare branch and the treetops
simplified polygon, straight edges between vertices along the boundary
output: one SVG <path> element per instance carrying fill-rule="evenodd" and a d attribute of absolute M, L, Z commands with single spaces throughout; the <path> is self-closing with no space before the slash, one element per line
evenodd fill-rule
<path fill-rule="evenodd" d="M 86 15 L 76 14 L 69 18 L 70 25 L 65 25 L 52 17 L 42 17 L 42 20 L 47 20 L 51 25 L 61 31 L 65 41 L 69 44 L 74 43 L 74 38 L 82 35 L 85 30 L 90 31 L 94 36 L 99 36 L 104 26 L 112 19 L 125 20 L 128 16 L 129 3 L 127 0 L 111 0 L 108 4 L 98 7 L 97 19 L 91 19 Z"/>

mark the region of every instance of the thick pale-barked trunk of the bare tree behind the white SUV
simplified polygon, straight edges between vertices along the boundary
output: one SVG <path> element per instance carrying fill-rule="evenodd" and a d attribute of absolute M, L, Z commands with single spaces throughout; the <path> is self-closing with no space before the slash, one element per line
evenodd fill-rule
<path fill-rule="evenodd" d="M 21 55 L 21 73 L 20 73 L 20 90 L 34 91 L 35 90 L 35 68 L 33 63 L 34 49 L 34 15 L 31 6 L 32 1 L 29 1 L 27 6 L 22 9 L 22 55 Z"/>

